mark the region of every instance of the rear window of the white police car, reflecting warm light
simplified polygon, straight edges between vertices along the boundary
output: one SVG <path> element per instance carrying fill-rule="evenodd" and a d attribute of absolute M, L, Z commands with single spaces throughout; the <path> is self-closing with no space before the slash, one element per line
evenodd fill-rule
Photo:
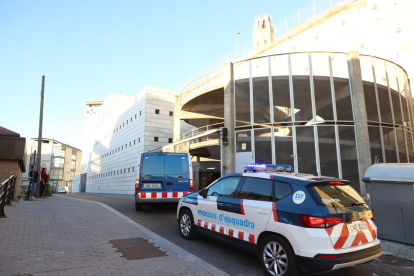
<path fill-rule="evenodd" d="M 350 185 L 318 185 L 310 190 L 320 206 L 349 208 L 365 205 L 365 201 Z"/>

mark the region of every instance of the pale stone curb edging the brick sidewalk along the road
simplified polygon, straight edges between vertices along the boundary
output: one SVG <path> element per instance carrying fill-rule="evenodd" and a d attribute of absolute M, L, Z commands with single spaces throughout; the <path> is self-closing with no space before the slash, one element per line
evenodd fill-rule
<path fill-rule="evenodd" d="M 141 232 L 143 232 L 145 235 L 147 235 L 148 237 L 150 237 L 152 240 L 156 241 L 158 244 L 163 245 L 163 246 L 171 249 L 172 251 L 174 251 L 175 253 L 179 254 L 183 258 L 185 258 L 185 259 L 193 262 L 197 266 L 201 267 L 206 272 L 208 272 L 208 273 L 210 273 L 212 275 L 215 275 L 215 276 L 229 275 L 226 272 L 222 271 L 221 269 L 215 267 L 214 265 L 212 265 L 212 264 L 204 261 L 203 259 L 197 257 L 196 255 L 188 252 L 187 250 L 179 247 L 178 245 L 176 245 L 176 244 L 170 242 L 169 240 L 161 237 L 160 235 L 152 232 L 148 228 L 145 228 L 141 224 L 139 224 L 136 221 L 128 218 L 124 214 L 118 212 L 117 210 L 113 209 L 112 207 L 106 205 L 105 203 L 96 202 L 96 201 L 92 201 L 92 200 L 86 200 L 86 199 L 80 199 L 80 198 L 73 198 L 73 197 L 61 196 L 61 195 L 57 195 L 57 196 L 62 197 L 62 198 L 67 198 L 67 199 L 80 200 L 80 201 L 86 201 L 86 202 L 90 202 L 90 203 L 99 204 L 103 208 L 111 211 L 112 213 L 114 213 L 115 215 L 117 215 L 118 217 L 120 217 L 121 219 L 123 219 L 125 222 L 131 224 L 132 226 L 134 226 L 135 228 L 137 228 L 138 230 L 140 230 Z"/>

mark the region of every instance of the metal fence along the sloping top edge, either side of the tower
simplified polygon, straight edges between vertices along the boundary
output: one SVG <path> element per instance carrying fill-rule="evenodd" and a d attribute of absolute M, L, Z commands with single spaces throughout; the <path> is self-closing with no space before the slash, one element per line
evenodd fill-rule
<path fill-rule="evenodd" d="M 309 27 L 309 25 L 317 23 L 318 20 L 329 16 L 330 13 L 356 1 L 359 0 L 315 0 L 311 2 L 297 12 L 274 24 L 276 39 L 273 45 L 285 39 L 287 36 L 292 35 L 295 31 L 298 31 L 301 25 Z M 200 78 L 223 69 L 225 63 L 244 60 L 252 57 L 254 54 L 253 39 L 251 39 L 182 83 L 180 91 L 187 90 L 192 86 L 192 83 L 197 82 Z"/>

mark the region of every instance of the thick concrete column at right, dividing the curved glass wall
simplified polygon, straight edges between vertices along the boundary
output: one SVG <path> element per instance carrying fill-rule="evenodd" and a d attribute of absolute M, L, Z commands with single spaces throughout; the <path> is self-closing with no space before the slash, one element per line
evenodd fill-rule
<path fill-rule="evenodd" d="M 364 86 L 362 84 L 361 63 L 358 52 L 348 54 L 349 78 L 351 80 L 352 103 L 354 107 L 355 138 L 357 143 L 359 187 L 362 195 L 366 194 L 362 177 L 371 166 L 371 148 L 369 143 L 368 116 L 365 106 Z"/>

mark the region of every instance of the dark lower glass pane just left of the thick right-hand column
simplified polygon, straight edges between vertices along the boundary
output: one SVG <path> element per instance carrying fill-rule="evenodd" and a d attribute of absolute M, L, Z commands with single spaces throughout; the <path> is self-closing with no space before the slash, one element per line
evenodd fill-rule
<path fill-rule="evenodd" d="M 351 181 L 351 186 L 360 192 L 355 129 L 353 126 L 339 126 L 338 134 L 341 149 L 342 178 Z"/>

